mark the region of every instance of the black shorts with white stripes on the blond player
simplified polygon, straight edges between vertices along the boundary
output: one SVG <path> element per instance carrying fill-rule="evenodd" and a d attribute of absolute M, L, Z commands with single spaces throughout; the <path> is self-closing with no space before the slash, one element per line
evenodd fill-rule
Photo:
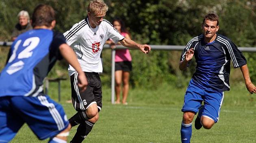
<path fill-rule="evenodd" d="M 100 75 L 95 72 L 85 72 L 88 86 L 82 93 L 77 85 L 78 72 L 70 76 L 72 103 L 76 111 L 84 111 L 91 104 L 97 103 L 98 111 L 102 108 L 102 89 Z"/>

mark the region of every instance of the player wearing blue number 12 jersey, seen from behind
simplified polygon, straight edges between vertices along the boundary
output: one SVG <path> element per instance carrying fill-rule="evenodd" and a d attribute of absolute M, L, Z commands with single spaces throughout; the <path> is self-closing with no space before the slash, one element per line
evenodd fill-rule
<path fill-rule="evenodd" d="M 43 79 L 62 58 L 77 70 L 81 90 L 87 79 L 63 34 L 52 31 L 54 9 L 40 4 L 31 22 L 33 29 L 13 42 L 0 74 L 0 142 L 11 141 L 26 123 L 38 139 L 66 143 L 71 125 L 61 105 L 44 95 Z"/>

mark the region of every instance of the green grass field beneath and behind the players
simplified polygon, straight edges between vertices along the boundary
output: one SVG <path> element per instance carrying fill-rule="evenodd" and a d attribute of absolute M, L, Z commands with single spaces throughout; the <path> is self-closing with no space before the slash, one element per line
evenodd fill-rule
<path fill-rule="evenodd" d="M 256 143 L 256 95 L 250 95 L 244 84 L 231 85 L 225 92 L 220 120 L 212 129 L 195 130 L 191 143 Z M 61 95 L 68 117 L 76 113 L 71 103 L 69 80 L 62 82 Z M 167 84 L 157 89 L 131 89 L 128 105 L 112 105 L 111 90 L 103 87 L 100 118 L 85 143 L 179 143 L 185 88 Z M 57 100 L 57 84 L 50 84 L 50 97 Z M 76 132 L 72 128 L 69 140 Z M 12 143 L 46 143 L 39 141 L 25 124 Z"/>

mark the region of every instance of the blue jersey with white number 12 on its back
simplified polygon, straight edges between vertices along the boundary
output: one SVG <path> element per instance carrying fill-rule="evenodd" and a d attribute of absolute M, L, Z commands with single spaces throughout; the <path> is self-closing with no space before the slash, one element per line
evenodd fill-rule
<path fill-rule="evenodd" d="M 33 29 L 13 42 L 7 65 L 0 74 L 0 97 L 43 95 L 43 79 L 57 59 L 59 46 L 65 42 L 61 33 Z"/>

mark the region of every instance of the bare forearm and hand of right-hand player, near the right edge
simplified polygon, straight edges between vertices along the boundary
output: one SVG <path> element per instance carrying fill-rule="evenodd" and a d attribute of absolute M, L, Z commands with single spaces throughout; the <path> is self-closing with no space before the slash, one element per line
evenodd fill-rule
<path fill-rule="evenodd" d="M 240 67 L 242 73 L 243 73 L 243 78 L 245 79 L 245 85 L 247 90 L 249 91 L 249 93 L 256 93 L 256 87 L 254 86 L 254 84 L 251 82 L 250 76 L 249 76 L 249 70 L 246 65 L 243 65 L 242 67 Z"/>

